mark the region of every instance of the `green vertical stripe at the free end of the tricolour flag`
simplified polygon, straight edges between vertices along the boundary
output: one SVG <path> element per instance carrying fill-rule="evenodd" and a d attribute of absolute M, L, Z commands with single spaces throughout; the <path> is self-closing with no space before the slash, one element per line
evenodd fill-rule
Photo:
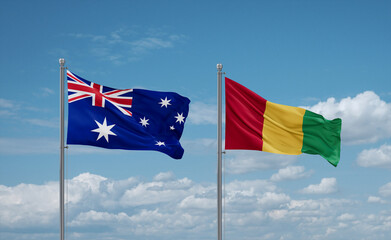
<path fill-rule="evenodd" d="M 301 152 L 319 154 L 337 166 L 341 151 L 341 124 L 339 118 L 327 120 L 306 110 L 303 117 L 303 147 Z"/>

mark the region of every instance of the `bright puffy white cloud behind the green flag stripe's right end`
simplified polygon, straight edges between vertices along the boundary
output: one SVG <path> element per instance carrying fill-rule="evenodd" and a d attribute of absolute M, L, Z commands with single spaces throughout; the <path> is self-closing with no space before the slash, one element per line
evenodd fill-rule
<path fill-rule="evenodd" d="M 341 118 L 342 141 L 347 144 L 374 143 L 391 137 L 391 103 L 372 91 L 339 102 L 329 98 L 306 108 L 327 119 Z"/>

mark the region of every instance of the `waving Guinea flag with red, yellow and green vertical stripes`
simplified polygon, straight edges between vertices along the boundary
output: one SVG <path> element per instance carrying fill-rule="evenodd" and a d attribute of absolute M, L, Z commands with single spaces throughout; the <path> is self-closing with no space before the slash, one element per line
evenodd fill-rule
<path fill-rule="evenodd" d="M 318 154 L 335 167 L 340 159 L 339 118 L 272 103 L 225 78 L 225 149 L 299 155 Z"/>

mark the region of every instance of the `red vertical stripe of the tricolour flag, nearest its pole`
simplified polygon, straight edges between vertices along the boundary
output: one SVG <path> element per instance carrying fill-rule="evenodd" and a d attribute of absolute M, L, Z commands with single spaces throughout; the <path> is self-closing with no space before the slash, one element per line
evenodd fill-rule
<path fill-rule="evenodd" d="M 225 78 L 225 149 L 262 150 L 266 100 Z"/>

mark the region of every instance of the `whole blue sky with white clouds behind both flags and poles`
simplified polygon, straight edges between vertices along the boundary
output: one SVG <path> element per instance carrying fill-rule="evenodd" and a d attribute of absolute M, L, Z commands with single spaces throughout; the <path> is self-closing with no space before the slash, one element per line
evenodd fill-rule
<path fill-rule="evenodd" d="M 3 1 L 0 239 L 59 237 L 59 58 L 191 100 L 182 160 L 70 146 L 67 239 L 216 239 L 216 64 L 342 118 L 341 161 L 227 151 L 225 239 L 391 235 L 389 1 Z"/>

